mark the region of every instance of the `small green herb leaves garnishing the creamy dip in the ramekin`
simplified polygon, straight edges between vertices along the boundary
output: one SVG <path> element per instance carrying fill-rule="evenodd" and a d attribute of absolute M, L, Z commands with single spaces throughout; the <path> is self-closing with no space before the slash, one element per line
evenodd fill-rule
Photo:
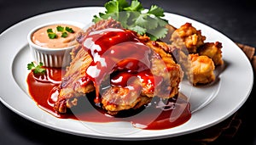
<path fill-rule="evenodd" d="M 61 37 L 63 37 L 63 38 L 66 38 L 68 36 L 67 32 L 74 33 L 72 28 L 70 28 L 68 26 L 63 27 L 61 25 L 58 25 L 56 27 L 56 31 L 61 32 Z M 48 33 L 49 39 L 55 39 L 58 37 L 57 34 L 50 28 L 47 30 L 47 33 Z"/>

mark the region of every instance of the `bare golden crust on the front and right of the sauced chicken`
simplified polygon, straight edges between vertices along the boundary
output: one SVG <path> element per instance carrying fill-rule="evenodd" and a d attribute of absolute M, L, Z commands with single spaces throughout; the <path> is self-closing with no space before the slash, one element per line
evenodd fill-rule
<path fill-rule="evenodd" d="M 168 47 L 168 45 L 163 42 L 150 41 L 148 36 L 138 35 L 138 39 L 154 51 L 150 57 L 152 63 L 150 70 L 153 75 L 147 76 L 147 79 L 154 77 L 149 80 L 155 82 L 144 82 L 141 81 L 143 78 L 137 77 L 125 87 L 111 86 L 102 94 L 102 108 L 106 109 L 108 114 L 118 114 L 121 110 L 138 109 L 150 103 L 154 97 L 166 99 L 173 98 L 178 94 L 179 83 L 183 79 L 183 70 L 172 59 L 172 55 L 163 50 L 163 47 Z M 114 76 L 119 78 L 119 73 Z M 157 78 L 160 78 L 159 84 L 154 80 Z M 153 92 L 152 87 L 154 87 Z"/>

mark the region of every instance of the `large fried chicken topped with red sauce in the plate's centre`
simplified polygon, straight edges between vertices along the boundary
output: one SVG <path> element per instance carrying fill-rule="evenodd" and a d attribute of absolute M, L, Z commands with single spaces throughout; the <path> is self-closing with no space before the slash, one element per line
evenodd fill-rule
<path fill-rule="evenodd" d="M 126 36 L 120 39 L 118 33 L 120 35 L 125 33 Z M 97 37 L 97 35 L 103 36 Z M 111 39 L 107 35 L 111 35 Z M 126 43 L 124 46 L 125 42 L 121 41 L 128 36 L 131 37 L 129 41 L 133 40 L 134 42 Z M 96 41 L 104 42 L 100 47 L 102 49 L 99 48 L 99 45 L 90 45 L 96 43 L 91 41 L 96 37 L 98 38 Z M 109 42 L 113 40 L 112 38 L 116 38 L 116 42 L 120 42 L 108 47 Z M 67 109 L 77 104 L 79 100 L 77 98 L 86 97 L 86 93 L 93 91 L 96 91 L 94 99 L 96 106 L 102 107 L 108 114 L 118 114 L 121 110 L 138 109 L 148 104 L 154 97 L 165 99 L 175 97 L 178 94 L 179 83 L 183 79 L 183 71 L 180 65 L 172 59 L 172 55 L 164 51 L 163 47 L 169 47 L 166 43 L 154 42 L 148 36 L 140 36 L 135 32 L 125 30 L 115 20 L 102 20 L 92 25 L 87 31 L 80 33 L 78 42 L 82 47 L 76 47 L 71 53 L 72 62 L 67 67 L 67 73 L 61 82 L 58 100 L 54 106 L 57 112 L 66 113 Z M 120 45 L 121 43 L 122 45 Z M 107 47 L 108 49 L 106 49 Z M 96 61 L 99 59 L 99 55 L 96 57 L 92 55 L 90 50 L 86 50 L 89 48 L 94 50 L 93 53 L 103 49 L 111 51 L 101 52 L 101 61 Z M 119 55 L 115 56 L 114 52 L 119 52 Z M 126 58 L 119 61 L 118 57 L 122 56 Z M 139 56 L 142 60 L 133 60 L 133 56 Z M 108 61 L 102 61 L 107 59 Z M 145 64 L 140 64 L 141 61 Z M 96 75 L 96 71 L 88 70 L 97 66 L 93 64 L 95 62 L 103 62 L 104 65 L 108 66 L 102 67 L 101 65 L 98 67 L 101 68 L 100 72 L 106 73 L 100 75 L 103 76 L 102 78 L 97 78 L 101 81 L 95 79 L 99 76 Z M 109 67 L 112 66 L 111 63 L 114 64 L 113 69 L 108 70 L 108 68 L 112 68 Z M 96 77 L 88 75 L 88 72 L 96 75 Z M 126 76 L 128 76 L 127 83 Z M 121 83 L 115 84 L 115 79 Z M 111 81 L 108 82 L 109 80 Z"/>

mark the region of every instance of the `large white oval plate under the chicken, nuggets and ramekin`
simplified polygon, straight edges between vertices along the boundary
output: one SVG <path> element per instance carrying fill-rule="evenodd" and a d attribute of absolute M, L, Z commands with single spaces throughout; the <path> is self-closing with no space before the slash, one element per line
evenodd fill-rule
<path fill-rule="evenodd" d="M 253 86 L 253 69 L 246 55 L 228 37 L 211 27 L 189 18 L 166 13 L 166 20 L 179 27 L 186 22 L 200 29 L 206 42 L 222 42 L 224 70 L 212 86 L 192 87 L 182 82 L 181 92 L 189 93 L 193 111 L 191 119 L 177 127 L 148 131 L 139 130 L 125 122 L 90 123 L 78 120 L 58 119 L 39 109 L 27 93 L 26 64 L 32 61 L 26 42 L 26 35 L 33 27 L 55 20 L 73 20 L 90 24 L 93 15 L 103 12 L 102 7 L 70 8 L 47 14 L 40 14 L 11 26 L 0 36 L 0 87 L 1 102 L 16 114 L 56 131 L 63 131 L 84 137 L 117 140 L 145 140 L 176 137 L 209 126 L 216 125 L 234 114 L 247 100 Z M 125 132 L 125 133 L 124 133 Z"/>

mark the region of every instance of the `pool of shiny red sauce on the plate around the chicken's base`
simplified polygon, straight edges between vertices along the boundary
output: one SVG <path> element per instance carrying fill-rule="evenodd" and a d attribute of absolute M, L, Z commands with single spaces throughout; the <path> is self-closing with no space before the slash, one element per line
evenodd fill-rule
<path fill-rule="evenodd" d="M 130 117 L 107 115 L 104 110 L 94 106 L 91 97 L 94 93 L 88 94 L 87 98 L 79 98 L 79 104 L 67 114 L 58 114 L 53 109 L 55 95 L 51 95 L 55 87 L 61 83 L 61 74 L 63 70 L 47 68 L 47 74 L 44 77 L 34 76 L 33 73 L 27 75 L 28 91 L 38 107 L 60 119 L 83 120 L 89 122 L 108 123 L 114 121 L 128 121 L 137 128 L 143 130 L 162 130 L 182 125 L 190 117 L 190 105 L 183 98 L 171 98 L 164 103 L 165 109 L 161 108 L 161 101 L 154 100 L 150 105 L 137 112 L 125 112 Z M 47 78 L 47 79 L 46 79 Z M 53 80 L 53 81 L 49 81 Z M 86 105 L 84 105 L 86 104 Z M 143 128 L 141 127 L 143 126 Z"/>

